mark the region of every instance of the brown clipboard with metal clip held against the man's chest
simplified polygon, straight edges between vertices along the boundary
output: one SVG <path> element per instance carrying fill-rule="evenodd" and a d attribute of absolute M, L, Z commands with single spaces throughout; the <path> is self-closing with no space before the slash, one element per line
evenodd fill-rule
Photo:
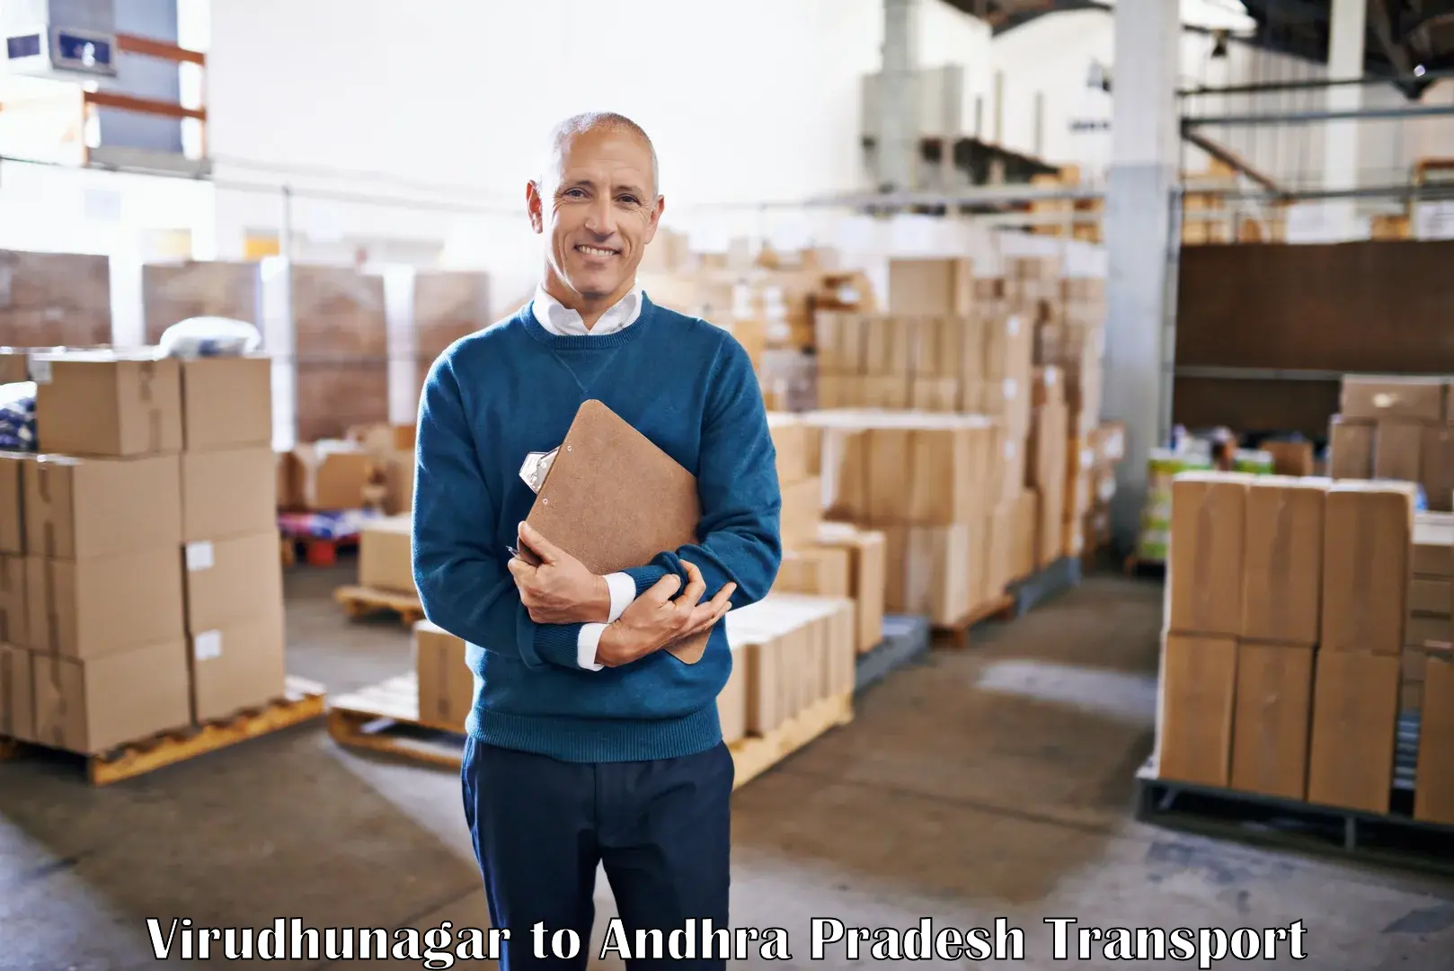
<path fill-rule="evenodd" d="M 593 574 L 644 566 L 696 542 L 696 476 L 599 400 L 583 402 L 560 447 L 529 456 L 521 473 L 535 488 L 525 521 Z M 516 555 L 539 565 L 529 549 Z M 666 651 L 696 664 L 710 636 Z"/>

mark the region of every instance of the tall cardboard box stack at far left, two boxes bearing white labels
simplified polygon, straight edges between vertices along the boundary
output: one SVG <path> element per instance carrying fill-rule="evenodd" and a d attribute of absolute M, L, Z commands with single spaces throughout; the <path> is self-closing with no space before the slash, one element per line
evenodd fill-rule
<path fill-rule="evenodd" d="M 99 753 L 281 697 L 269 361 L 31 374 L 41 453 L 0 460 L 7 734 Z"/>

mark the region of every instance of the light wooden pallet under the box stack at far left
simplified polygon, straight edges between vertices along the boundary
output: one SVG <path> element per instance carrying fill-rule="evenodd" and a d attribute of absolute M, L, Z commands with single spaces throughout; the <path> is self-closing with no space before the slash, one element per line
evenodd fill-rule
<path fill-rule="evenodd" d="M 95 756 L 74 756 L 45 745 L 0 740 L 0 758 L 15 757 L 26 750 L 79 757 L 86 763 L 86 777 L 93 786 L 109 786 L 157 769 L 174 766 L 206 753 L 228 748 L 237 742 L 269 735 L 314 718 L 323 718 L 327 693 L 321 684 L 288 675 L 286 694 L 260 709 L 244 710 L 231 718 L 176 732 L 128 742 Z M 7 745 L 9 742 L 9 745 Z M 9 754 L 7 754 L 9 751 Z"/>

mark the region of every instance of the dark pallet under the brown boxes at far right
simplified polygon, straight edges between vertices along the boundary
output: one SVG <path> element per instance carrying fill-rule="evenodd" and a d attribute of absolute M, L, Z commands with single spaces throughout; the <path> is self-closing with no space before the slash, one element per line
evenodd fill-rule
<path fill-rule="evenodd" d="M 1160 779 L 1147 760 L 1136 773 L 1136 817 L 1204 836 L 1451 873 L 1454 825 L 1413 818 L 1418 735 L 1418 713 L 1400 715 L 1389 812 Z"/>

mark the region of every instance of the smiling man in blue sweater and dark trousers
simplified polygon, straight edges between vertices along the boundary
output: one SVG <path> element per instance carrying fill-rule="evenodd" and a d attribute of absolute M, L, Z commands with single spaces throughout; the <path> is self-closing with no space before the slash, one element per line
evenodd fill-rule
<path fill-rule="evenodd" d="M 635 284 L 663 211 L 646 132 L 609 114 L 563 122 L 526 210 L 545 243 L 535 298 L 458 341 L 425 384 L 414 579 L 477 675 L 461 776 L 490 914 L 510 932 L 502 965 L 585 968 L 598 862 L 632 940 L 692 919 L 727 926 L 733 761 L 717 694 L 731 652 L 718 622 L 776 578 L 781 496 L 746 351 Z M 523 526 L 535 494 L 522 463 L 560 445 L 587 399 L 696 476 L 696 543 L 596 576 Z M 708 627 L 695 664 L 663 651 Z M 551 954 L 557 930 L 579 935 L 574 959 Z"/>

